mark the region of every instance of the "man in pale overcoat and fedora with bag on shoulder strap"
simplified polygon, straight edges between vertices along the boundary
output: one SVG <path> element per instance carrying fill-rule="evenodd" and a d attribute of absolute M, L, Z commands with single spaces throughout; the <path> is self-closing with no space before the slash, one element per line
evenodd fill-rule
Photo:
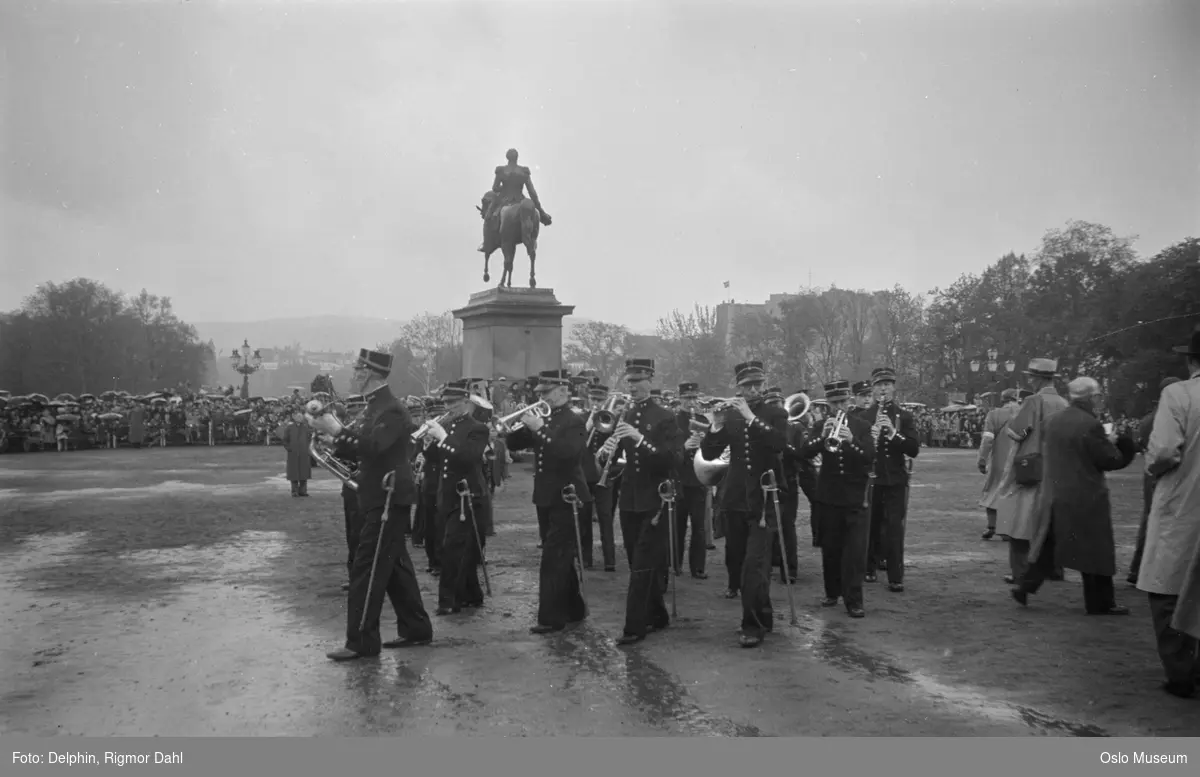
<path fill-rule="evenodd" d="M 1028 568 L 1030 541 L 1038 524 L 1038 498 L 1042 494 L 1042 442 L 1045 423 L 1068 408 L 1066 398 L 1054 386 L 1058 362 L 1032 359 L 1028 369 L 1033 393 L 1021 403 L 1016 416 L 1004 429 L 1013 450 L 1004 463 L 1004 474 L 996 500 L 996 531 L 1008 537 L 1007 583 L 1018 583 Z"/>

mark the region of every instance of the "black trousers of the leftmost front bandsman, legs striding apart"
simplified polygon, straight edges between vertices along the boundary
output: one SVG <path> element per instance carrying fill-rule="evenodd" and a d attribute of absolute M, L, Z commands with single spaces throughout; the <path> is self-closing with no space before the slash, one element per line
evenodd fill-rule
<path fill-rule="evenodd" d="M 404 520 L 412 510 L 407 505 L 394 505 L 383 524 L 383 506 L 366 511 L 362 530 L 359 534 L 359 547 L 354 552 L 354 566 L 350 568 L 350 592 L 346 607 L 346 648 L 364 656 L 377 656 L 382 648 L 379 637 L 379 615 L 383 612 L 383 598 L 391 601 L 396 613 L 396 627 L 401 638 L 428 639 L 433 636 L 433 625 L 425 612 L 421 601 L 421 589 L 416 583 L 413 560 L 408 558 L 404 546 Z M 382 530 L 382 531 L 380 531 Z M 376 560 L 376 544 L 380 535 L 379 558 Z M 374 562 L 374 584 L 371 584 L 371 567 Z M 371 601 L 367 601 L 367 588 L 371 589 Z M 359 621 L 366 610 L 366 627 L 360 632 Z"/>

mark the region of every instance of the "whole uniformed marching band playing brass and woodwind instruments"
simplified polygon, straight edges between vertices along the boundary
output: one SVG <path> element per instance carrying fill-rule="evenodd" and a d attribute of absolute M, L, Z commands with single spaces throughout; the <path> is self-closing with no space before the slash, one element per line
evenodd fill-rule
<path fill-rule="evenodd" d="M 691 381 L 677 393 L 654 389 L 654 360 L 630 357 L 624 392 L 590 371 L 552 369 L 530 378 L 530 402 L 504 415 L 473 378 L 451 381 L 437 398 L 397 399 L 390 369 L 388 354 L 362 349 L 361 399 L 335 394 L 307 408 L 313 460 L 343 482 L 348 622 L 346 645 L 331 659 L 432 642 L 406 534 L 414 548 L 424 546 L 438 577 L 437 615 L 491 596 L 485 548 L 496 486 L 486 472 L 498 444 L 533 453 L 541 564 L 532 633 L 560 632 L 588 616 L 595 524 L 604 571 L 617 568 L 617 526 L 630 570 L 618 645 L 671 625 L 684 559 L 692 578 L 707 579 L 714 536 L 725 537 L 725 596 L 742 601 L 738 644 L 761 645 L 775 625 L 774 567 L 796 619 L 802 495 L 821 549 L 823 607 L 840 601 L 851 618 L 865 616 L 864 583 L 877 571 L 887 572 L 889 591 L 904 590 L 919 440 L 912 414 L 895 403 L 889 368 L 872 371 L 870 383 L 826 384 L 824 397 L 812 400 L 806 391 L 785 397 L 767 385 L 762 362 L 746 361 L 734 368 L 734 397 L 706 399 Z M 384 597 L 398 631 L 388 642 L 379 634 Z"/>

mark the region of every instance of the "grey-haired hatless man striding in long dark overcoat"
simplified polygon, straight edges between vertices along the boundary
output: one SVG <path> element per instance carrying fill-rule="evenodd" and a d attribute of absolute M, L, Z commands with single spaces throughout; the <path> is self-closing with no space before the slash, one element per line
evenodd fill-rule
<path fill-rule="evenodd" d="M 1057 565 L 1082 574 L 1088 615 L 1128 615 L 1129 608 L 1116 603 L 1112 590 L 1117 561 L 1104 472 L 1129 466 L 1138 450 L 1132 438 L 1104 430 L 1096 416 L 1100 402 L 1096 380 L 1076 378 L 1067 391 L 1070 405 L 1046 421 L 1043 432 L 1043 481 L 1030 564 L 1013 598 L 1027 603 Z"/>

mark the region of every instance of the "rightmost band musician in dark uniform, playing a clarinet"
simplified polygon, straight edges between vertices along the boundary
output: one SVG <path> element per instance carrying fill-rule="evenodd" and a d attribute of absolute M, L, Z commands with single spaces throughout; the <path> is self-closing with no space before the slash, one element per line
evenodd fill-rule
<path fill-rule="evenodd" d="M 888 590 L 904 590 L 904 542 L 908 523 L 908 459 L 920 453 L 920 438 L 912 414 L 895 403 L 896 374 L 887 367 L 871 371 L 875 408 L 864 415 L 871 423 L 875 441 L 875 482 L 871 487 L 871 540 L 878 550 L 868 565 L 882 558 L 888 572 Z M 880 410 L 882 408 L 882 411 Z M 866 567 L 866 582 L 876 579 L 875 567 Z"/>

